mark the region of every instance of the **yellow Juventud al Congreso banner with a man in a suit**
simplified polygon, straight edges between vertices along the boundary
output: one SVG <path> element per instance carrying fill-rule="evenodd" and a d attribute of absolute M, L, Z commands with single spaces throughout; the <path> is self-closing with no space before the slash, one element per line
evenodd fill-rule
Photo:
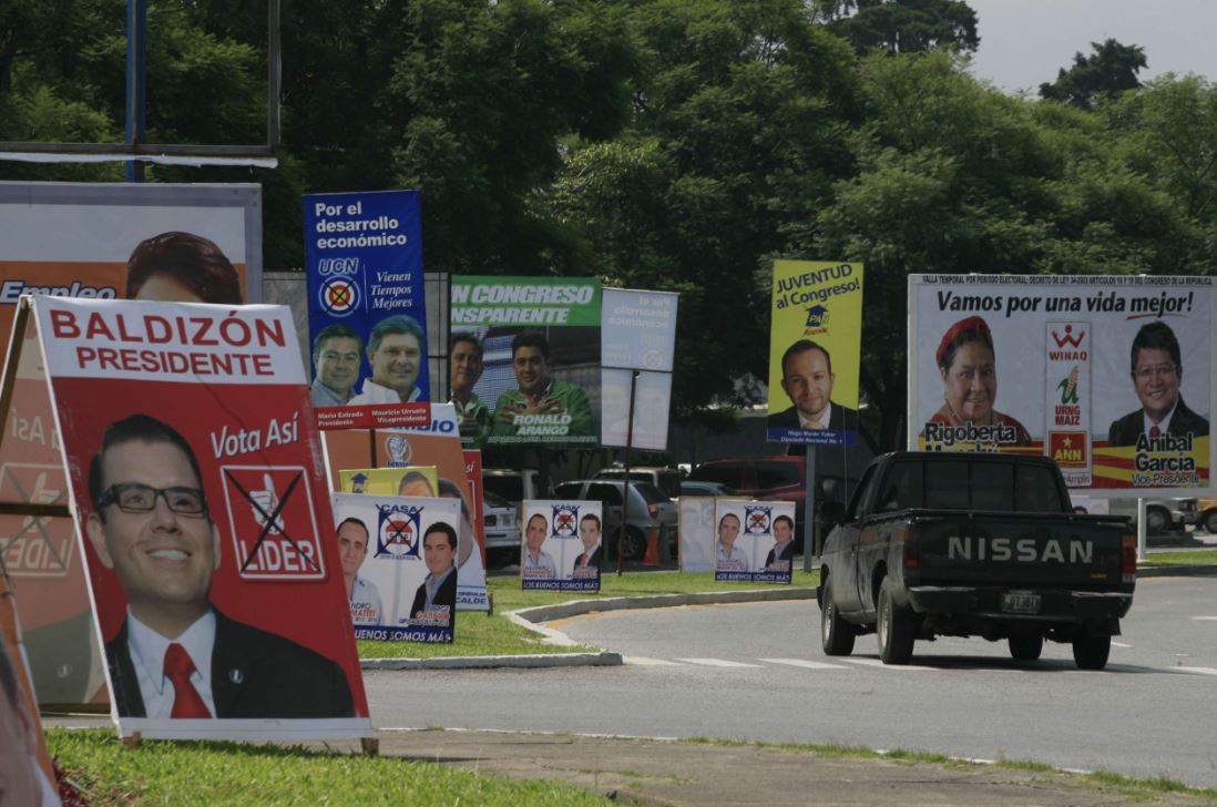
<path fill-rule="evenodd" d="M 774 262 L 769 442 L 857 442 L 862 279 L 860 263 Z"/>

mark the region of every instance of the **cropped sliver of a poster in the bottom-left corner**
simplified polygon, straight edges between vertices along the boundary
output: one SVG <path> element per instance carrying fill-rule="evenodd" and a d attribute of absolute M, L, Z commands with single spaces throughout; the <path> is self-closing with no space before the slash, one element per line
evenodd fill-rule
<path fill-rule="evenodd" d="M 5 805 L 56 807 L 55 769 L 46 752 L 32 676 L 22 652 L 21 620 L 0 564 L 0 797 Z"/>

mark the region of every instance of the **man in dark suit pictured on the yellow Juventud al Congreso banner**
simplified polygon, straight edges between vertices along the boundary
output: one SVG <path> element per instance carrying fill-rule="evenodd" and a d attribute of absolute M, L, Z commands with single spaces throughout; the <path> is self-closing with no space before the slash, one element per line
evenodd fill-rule
<path fill-rule="evenodd" d="M 781 388 L 793 404 L 770 415 L 768 428 L 857 431 L 858 413 L 832 402 L 832 357 L 812 340 L 798 340 L 781 355 Z"/>

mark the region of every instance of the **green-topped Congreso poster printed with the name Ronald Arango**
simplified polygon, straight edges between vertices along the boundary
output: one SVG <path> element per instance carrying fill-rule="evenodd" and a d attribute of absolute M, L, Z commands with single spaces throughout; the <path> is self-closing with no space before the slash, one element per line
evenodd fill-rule
<path fill-rule="evenodd" d="M 450 304 L 466 448 L 599 442 L 599 280 L 454 275 Z"/>

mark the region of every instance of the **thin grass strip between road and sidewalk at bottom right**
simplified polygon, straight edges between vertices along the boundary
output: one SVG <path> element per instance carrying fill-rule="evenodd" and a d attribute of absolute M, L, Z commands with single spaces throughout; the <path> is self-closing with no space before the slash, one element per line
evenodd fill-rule
<path fill-rule="evenodd" d="M 736 747 L 756 747 L 756 749 L 768 749 L 772 751 L 787 751 L 797 753 L 813 753 L 821 757 L 835 757 L 835 758 L 863 758 L 863 760 L 892 760 L 894 762 L 904 763 L 922 763 L 922 764 L 938 764 L 952 769 L 977 769 L 977 768 L 1002 768 L 1006 770 L 1023 770 L 1027 773 L 1044 774 L 1053 777 L 1056 783 L 1070 783 L 1077 784 L 1079 786 L 1087 786 L 1093 790 L 1099 791 L 1118 791 L 1123 797 L 1137 800 L 1137 801 L 1156 801 L 1159 796 L 1163 794 L 1173 794 L 1188 796 L 1195 798 L 1199 802 L 1217 803 L 1217 790 L 1212 788 L 1193 788 L 1190 785 L 1183 784 L 1182 781 L 1176 781 L 1173 779 L 1166 779 L 1162 777 L 1144 778 L 1144 777 L 1126 777 L 1118 773 L 1110 773 L 1106 770 L 1094 770 L 1089 773 L 1072 773 L 1069 770 L 1061 770 L 1050 764 L 1043 762 L 1032 762 L 1030 760 L 997 760 L 992 763 L 983 762 L 971 762 L 969 760 L 958 760 L 955 757 L 948 757 L 942 753 L 927 753 L 922 751 L 904 751 L 902 749 L 896 749 L 893 751 L 875 751 L 874 749 L 867 749 L 856 745 L 801 745 L 801 744 L 773 744 L 773 742 L 755 742 L 755 741 L 741 741 L 741 740 L 718 740 L 713 738 L 688 738 L 680 740 L 680 742 L 690 742 L 694 745 L 723 745 L 723 746 L 736 746 Z"/>

